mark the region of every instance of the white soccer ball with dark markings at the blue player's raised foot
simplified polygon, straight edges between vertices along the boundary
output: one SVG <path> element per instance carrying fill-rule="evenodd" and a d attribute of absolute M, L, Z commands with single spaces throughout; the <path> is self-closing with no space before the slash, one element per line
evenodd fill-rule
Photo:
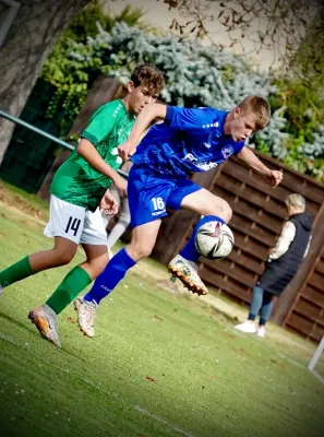
<path fill-rule="evenodd" d="M 212 260 L 219 260 L 229 255 L 233 247 L 235 238 L 226 224 L 214 220 L 199 228 L 194 243 L 201 256 Z"/>

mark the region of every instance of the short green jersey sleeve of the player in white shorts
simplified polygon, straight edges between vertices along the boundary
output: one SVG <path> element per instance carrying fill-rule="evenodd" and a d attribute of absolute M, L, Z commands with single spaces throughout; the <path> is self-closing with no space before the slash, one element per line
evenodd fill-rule
<path fill-rule="evenodd" d="M 92 116 L 88 126 L 82 132 L 81 138 L 85 138 L 94 145 L 109 135 L 116 122 L 113 105 L 103 105 Z"/>

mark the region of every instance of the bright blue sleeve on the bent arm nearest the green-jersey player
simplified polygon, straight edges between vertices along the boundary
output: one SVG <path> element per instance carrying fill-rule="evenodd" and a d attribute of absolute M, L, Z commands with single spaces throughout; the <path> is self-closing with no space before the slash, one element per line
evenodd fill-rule
<path fill-rule="evenodd" d="M 202 129 L 217 122 L 217 110 L 213 108 L 167 106 L 165 123 L 180 130 Z"/>

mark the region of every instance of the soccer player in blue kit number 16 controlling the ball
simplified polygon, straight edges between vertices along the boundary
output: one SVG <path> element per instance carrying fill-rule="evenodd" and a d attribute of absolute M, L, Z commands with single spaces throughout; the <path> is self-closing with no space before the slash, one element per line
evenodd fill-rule
<path fill-rule="evenodd" d="M 244 98 L 231 111 L 160 104 L 148 105 L 141 111 L 131 135 L 119 146 L 121 157 L 131 157 L 133 162 L 128 184 L 132 240 L 109 261 L 89 293 L 74 302 L 79 326 L 86 335 L 95 334 L 94 317 L 100 300 L 112 292 L 129 269 L 151 255 L 167 206 L 203 215 L 192 237 L 168 268 L 193 293 L 207 293 L 195 268 L 200 258 L 194 246 L 195 233 L 211 220 L 228 223 L 232 212 L 224 199 L 188 176 L 192 172 L 206 172 L 231 155 L 238 155 L 272 186 L 277 186 L 281 172 L 267 168 L 244 145 L 249 135 L 269 122 L 269 105 L 260 96 Z M 141 141 L 145 130 L 157 121 L 161 123 L 156 123 Z"/>

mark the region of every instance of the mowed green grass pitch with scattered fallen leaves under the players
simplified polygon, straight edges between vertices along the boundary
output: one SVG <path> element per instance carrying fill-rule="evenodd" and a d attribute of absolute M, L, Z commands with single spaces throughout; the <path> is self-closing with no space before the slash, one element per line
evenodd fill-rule
<path fill-rule="evenodd" d="M 3 269 L 51 240 L 36 220 L 0 205 L 0 245 Z M 77 330 L 71 306 L 59 317 L 62 349 L 48 343 L 27 314 L 70 269 L 0 298 L 1 435 L 323 435 L 323 383 L 271 339 L 236 332 L 200 299 L 163 291 L 149 260 L 100 305 L 94 339 Z"/>

